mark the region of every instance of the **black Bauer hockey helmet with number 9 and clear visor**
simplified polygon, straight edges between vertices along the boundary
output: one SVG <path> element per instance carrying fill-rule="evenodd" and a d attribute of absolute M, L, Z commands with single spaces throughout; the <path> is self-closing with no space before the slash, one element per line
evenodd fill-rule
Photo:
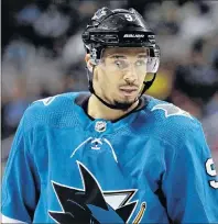
<path fill-rule="evenodd" d="M 83 42 L 94 65 L 98 65 L 102 51 L 108 47 L 148 47 L 146 72 L 154 74 L 154 77 L 151 81 L 144 81 L 141 96 L 152 86 L 160 65 L 160 48 L 155 42 L 155 34 L 134 9 L 99 9 L 84 31 Z M 88 78 L 89 90 L 95 93 L 92 79 L 90 76 Z"/>

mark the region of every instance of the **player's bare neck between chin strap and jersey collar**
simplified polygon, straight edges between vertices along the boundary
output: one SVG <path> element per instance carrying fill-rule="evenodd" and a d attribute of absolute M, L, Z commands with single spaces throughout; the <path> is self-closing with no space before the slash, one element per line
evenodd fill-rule
<path fill-rule="evenodd" d="M 126 115 L 130 111 L 132 111 L 134 108 L 137 108 L 139 101 L 134 102 L 127 111 L 122 110 L 115 110 L 106 107 L 102 104 L 98 98 L 96 98 L 94 94 L 89 98 L 88 101 L 88 115 L 90 115 L 94 119 L 105 119 L 108 121 L 115 121 L 119 117 Z"/>

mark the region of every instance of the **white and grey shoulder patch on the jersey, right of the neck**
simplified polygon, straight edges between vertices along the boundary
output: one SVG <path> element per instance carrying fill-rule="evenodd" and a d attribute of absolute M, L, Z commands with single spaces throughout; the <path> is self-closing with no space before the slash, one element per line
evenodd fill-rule
<path fill-rule="evenodd" d="M 193 119 L 188 112 L 179 109 L 178 107 L 172 103 L 163 103 L 163 104 L 154 105 L 152 108 L 152 111 L 155 111 L 155 110 L 163 110 L 165 112 L 165 117 L 177 115 L 177 116 L 187 116 L 189 119 Z"/>

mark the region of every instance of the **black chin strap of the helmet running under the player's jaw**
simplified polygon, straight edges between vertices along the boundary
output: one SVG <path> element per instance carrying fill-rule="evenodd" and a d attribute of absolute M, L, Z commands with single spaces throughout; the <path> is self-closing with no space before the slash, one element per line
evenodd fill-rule
<path fill-rule="evenodd" d="M 89 89 L 89 91 L 90 91 L 92 94 L 95 94 L 95 96 L 97 97 L 97 99 L 98 99 L 101 103 L 103 103 L 106 107 L 108 107 L 108 108 L 110 108 L 110 109 L 113 109 L 113 110 L 128 110 L 128 109 L 129 109 L 134 102 L 137 102 L 137 101 L 142 97 L 142 94 L 152 86 L 152 83 L 153 83 L 153 81 L 154 81 L 154 79 L 155 79 L 155 77 L 156 77 L 156 74 L 154 74 L 154 77 L 152 78 L 152 80 L 150 80 L 150 81 L 143 81 L 144 87 L 143 87 L 143 89 L 142 89 L 142 92 L 141 92 L 140 97 L 135 98 L 135 100 L 134 100 L 132 103 L 130 103 L 130 104 L 124 104 L 124 103 L 110 104 L 110 103 L 106 102 L 103 99 L 101 99 L 98 94 L 96 94 L 96 91 L 95 91 L 94 85 L 92 85 L 92 79 L 90 78 L 91 72 L 90 72 L 90 70 L 89 70 L 87 67 L 86 67 L 86 69 L 87 69 L 87 78 L 88 78 L 88 89 Z M 95 69 L 95 67 L 94 67 L 94 69 Z M 94 74 L 94 69 L 92 69 L 92 74 Z"/>

